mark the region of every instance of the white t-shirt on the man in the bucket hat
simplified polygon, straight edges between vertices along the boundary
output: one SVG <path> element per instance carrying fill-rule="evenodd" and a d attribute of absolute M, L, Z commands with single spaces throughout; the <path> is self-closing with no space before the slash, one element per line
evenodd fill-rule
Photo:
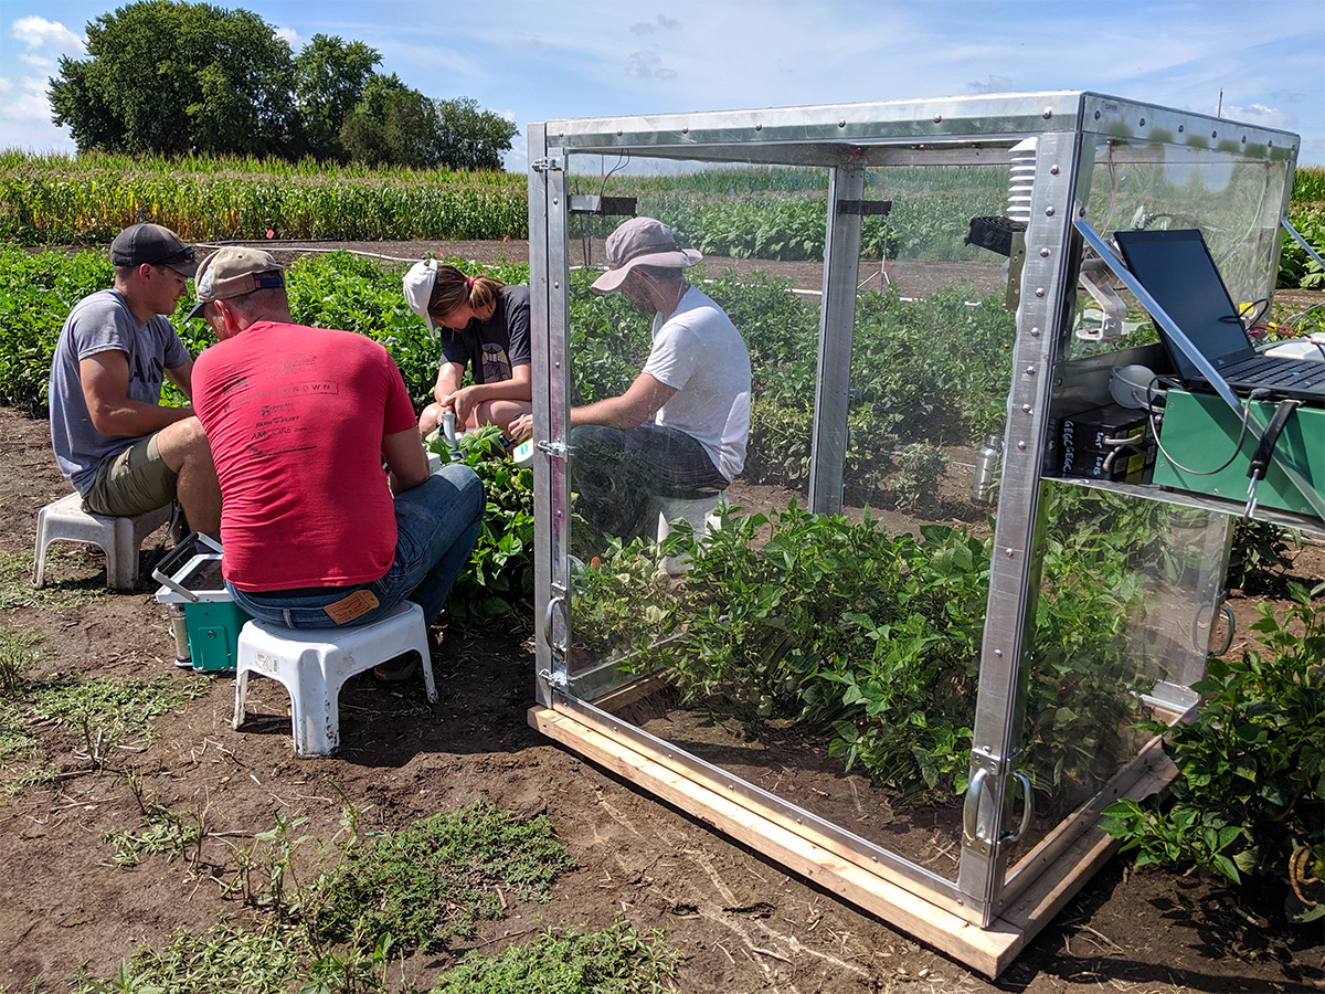
<path fill-rule="evenodd" d="M 653 419 L 704 445 L 727 480 L 745 467 L 750 435 L 750 353 L 737 326 L 692 286 L 676 311 L 653 318 L 644 372 L 677 392 Z"/>

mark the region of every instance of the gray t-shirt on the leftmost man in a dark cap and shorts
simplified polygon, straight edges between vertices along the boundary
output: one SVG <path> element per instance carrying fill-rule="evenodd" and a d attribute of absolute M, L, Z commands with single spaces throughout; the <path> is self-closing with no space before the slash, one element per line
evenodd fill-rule
<path fill-rule="evenodd" d="M 87 492 L 106 456 L 138 441 L 97 431 L 83 400 L 78 363 L 111 350 L 129 355 L 129 399 L 144 404 L 159 404 L 166 370 L 191 358 L 167 318 L 156 314 L 139 321 L 119 290 L 98 290 L 74 305 L 50 363 L 50 444 L 60 472 L 78 493 Z"/>

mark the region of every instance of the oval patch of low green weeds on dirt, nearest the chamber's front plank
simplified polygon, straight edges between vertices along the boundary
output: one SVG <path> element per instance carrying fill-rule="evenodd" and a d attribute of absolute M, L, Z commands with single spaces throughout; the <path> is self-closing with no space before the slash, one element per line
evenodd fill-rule
<path fill-rule="evenodd" d="M 401 948 L 435 950 L 505 917 L 504 892 L 547 901 L 574 865 L 547 815 L 521 822 L 478 801 L 350 850 L 323 881 L 317 928 L 331 942 L 391 933 Z"/>

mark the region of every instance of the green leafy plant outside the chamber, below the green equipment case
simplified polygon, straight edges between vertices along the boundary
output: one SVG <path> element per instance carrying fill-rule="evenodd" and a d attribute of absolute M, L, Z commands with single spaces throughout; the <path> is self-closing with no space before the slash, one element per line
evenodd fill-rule
<path fill-rule="evenodd" d="M 1325 612 L 1314 602 L 1325 584 L 1289 583 L 1289 595 L 1283 618 L 1261 606 L 1251 626 L 1263 651 L 1211 659 L 1194 685 L 1204 704 L 1166 742 L 1178 766 L 1171 801 L 1105 810 L 1105 828 L 1137 852 L 1138 864 L 1186 863 L 1248 885 L 1322 876 Z M 1305 918 L 1322 914 L 1318 899 L 1304 908 Z"/>

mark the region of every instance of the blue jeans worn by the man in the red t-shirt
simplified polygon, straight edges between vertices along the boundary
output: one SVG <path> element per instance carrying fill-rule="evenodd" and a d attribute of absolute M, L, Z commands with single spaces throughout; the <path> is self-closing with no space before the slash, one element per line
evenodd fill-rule
<path fill-rule="evenodd" d="M 288 628 L 337 627 L 337 622 L 322 608 L 356 590 L 370 591 L 379 603 L 347 624 L 376 622 L 401 600 L 419 604 L 423 616 L 432 624 L 478 538 L 486 504 L 484 484 L 469 467 L 452 464 L 398 494 L 395 504 L 396 558 L 382 579 L 307 594 L 280 590 L 253 594 L 236 590 L 229 582 L 225 588 L 236 604 L 258 620 Z"/>

